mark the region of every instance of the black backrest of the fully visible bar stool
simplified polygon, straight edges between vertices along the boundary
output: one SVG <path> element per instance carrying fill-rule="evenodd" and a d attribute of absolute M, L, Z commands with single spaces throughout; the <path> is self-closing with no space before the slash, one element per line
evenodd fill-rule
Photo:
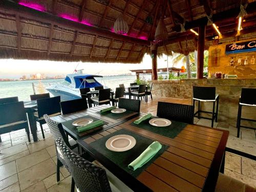
<path fill-rule="evenodd" d="M 215 87 L 193 87 L 193 98 L 202 100 L 215 100 Z"/>

